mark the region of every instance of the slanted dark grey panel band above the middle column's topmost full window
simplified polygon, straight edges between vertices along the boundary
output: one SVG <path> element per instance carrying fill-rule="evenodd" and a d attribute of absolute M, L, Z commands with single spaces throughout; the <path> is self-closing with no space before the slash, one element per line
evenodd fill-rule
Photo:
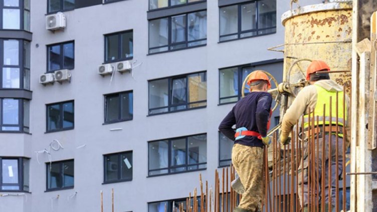
<path fill-rule="evenodd" d="M 201 2 L 191 5 L 178 6 L 173 8 L 160 9 L 156 11 L 147 12 L 147 19 L 158 19 L 163 17 L 169 17 L 178 14 L 191 13 L 196 11 L 207 10 L 207 2 Z"/>

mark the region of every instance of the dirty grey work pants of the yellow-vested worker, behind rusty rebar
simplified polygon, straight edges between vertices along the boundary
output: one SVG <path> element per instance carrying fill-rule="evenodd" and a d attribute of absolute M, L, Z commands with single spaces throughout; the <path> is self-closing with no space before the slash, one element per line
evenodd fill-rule
<path fill-rule="evenodd" d="M 331 135 L 331 155 L 329 157 L 329 135 L 325 135 L 324 138 L 320 136 L 318 139 L 318 150 L 319 150 L 319 155 L 317 155 L 317 139 L 315 139 L 314 142 L 314 161 L 309 158 L 308 156 L 308 145 L 311 144 L 311 140 L 307 141 L 304 143 L 304 158 L 300 162 L 300 166 L 298 168 L 298 196 L 300 199 L 300 204 L 301 206 L 308 206 L 308 203 L 310 201 L 309 199 L 309 186 L 311 187 L 312 183 L 316 185 L 317 177 L 314 178 L 314 174 L 312 172 L 312 165 L 314 164 L 314 170 L 315 170 L 315 175 L 317 174 L 317 163 L 318 163 L 318 187 L 319 190 L 314 193 L 314 191 L 310 188 L 310 196 L 314 195 L 315 198 L 319 196 L 319 203 L 318 205 L 321 204 L 321 185 L 322 185 L 322 180 L 324 180 L 324 199 L 325 199 L 325 204 L 329 204 L 329 196 L 331 195 L 331 204 L 335 205 L 335 186 L 336 186 L 336 180 L 339 179 L 339 176 L 341 176 L 343 167 L 342 167 L 342 152 L 343 152 L 343 139 L 341 137 L 338 137 L 338 142 L 336 143 L 336 136 Z M 322 145 L 325 145 L 325 152 L 324 152 L 324 167 L 322 167 Z M 336 145 L 338 145 L 338 163 L 336 163 Z M 311 154 L 313 153 L 312 150 L 310 150 Z M 329 185 L 329 171 L 328 167 L 329 164 L 331 166 L 331 181 Z M 338 169 L 338 176 L 335 176 L 335 171 Z M 304 177 L 302 178 L 302 173 L 304 172 Z M 324 179 L 322 179 L 322 171 L 324 172 Z M 308 185 L 309 181 L 309 185 Z M 340 185 L 340 183 L 339 183 Z M 331 186 L 331 193 L 328 192 L 328 186 Z M 304 196 L 302 196 L 302 192 L 304 192 Z M 304 205 L 302 205 L 302 202 Z M 314 201 L 314 207 L 316 207 L 317 202 Z M 309 208 L 311 207 L 311 203 L 309 205 Z"/>

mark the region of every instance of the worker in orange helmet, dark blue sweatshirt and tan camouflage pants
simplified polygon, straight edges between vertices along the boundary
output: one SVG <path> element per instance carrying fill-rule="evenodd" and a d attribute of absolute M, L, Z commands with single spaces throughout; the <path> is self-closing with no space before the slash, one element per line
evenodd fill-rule
<path fill-rule="evenodd" d="M 240 176 L 244 192 L 234 212 L 261 209 L 263 196 L 263 147 L 269 145 L 267 130 L 271 117 L 270 80 L 263 71 L 254 71 L 248 79 L 250 93 L 224 118 L 219 130 L 231 140 L 232 163 Z M 236 125 L 236 132 L 232 128 Z"/>

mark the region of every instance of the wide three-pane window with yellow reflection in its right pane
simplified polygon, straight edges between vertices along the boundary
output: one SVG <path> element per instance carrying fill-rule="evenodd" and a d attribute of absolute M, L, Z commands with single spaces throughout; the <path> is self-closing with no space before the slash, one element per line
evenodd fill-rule
<path fill-rule="evenodd" d="M 206 106 L 206 72 L 149 81 L 149 115 Z"/>

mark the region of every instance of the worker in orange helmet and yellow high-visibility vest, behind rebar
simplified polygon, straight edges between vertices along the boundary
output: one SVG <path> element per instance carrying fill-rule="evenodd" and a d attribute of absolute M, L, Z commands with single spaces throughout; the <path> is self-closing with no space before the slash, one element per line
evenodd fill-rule
<path fill-rule="evenodd" d="M 291 132 L 293 126 L 297 123 L 298 120 L 302 120 L 300 117 L 304 116 L 304 123 L 300 123 L 300 125 L 304 126 L 301 129 L 301 135 L 303 135 L 302 139 L 304 139 L 304 155 L 303 159 L 300 162 L 299 172 L 303 171 L 304 177 L 298 177 L 298 193 L 300 198 L 301 207 L 303 207 L 303 211 L 311 211 L 314 205 L 309 205 L 309 193 L 308 193 L 308 178 L 310 175 L 310 167 L 314 165 L 315 171 L 319 172 L 319 181 L 324 180 L 325 187 L 321 187 L 321 182 L 319 182 L 319 190 L 324 189 L 324 196 L 320 196 L 321 192 L 319 192 L 318 196 L 320 196 L 319 204 L 322 202 L 322 198 L 324 198 L 324 208 L 325 211 L 331 211 L 333 205 L 335 205 L 335 185 L 336 180 L 340 177 L 343 169 L 342 169 L 342 143 L 343 143 L 343 134 L 342 132 L 343 126 L 345 130 L 350 132 L 350 110 L 349 110 L 349 98 L 345 95 L 345 111 L 343 111 L 343 105 L 338 104 L 338 108 L 336 108 L 336 93 L 338 93 L 338 102 L 343 102 L 343 87 L 338 85 L 335 81 L 330 80 L 330 76 L 327 71 L 330 71 L 330 67 L 323 61 L 314 60 L 308 66 L 306 70 L 306 80 L 309 82 L 309 86 L 304 87 L 297 95 L 297 97 L 292 102 L 292 105 L 288 108 L 287 112 L 284 114 L 282 125 L 281 125 L 281 134 L 280 134 L 280 142 L 285 145 L 288 143 L 288 136 Z M 330 114 L 330 97 L 331 97 L 331 114 Z M 325 105 L 325 109 L 323 109 L 323 105 Z M 311 111 L 310 120 L 309 120 L 309 109 Z M 313 112 L 314 111 L 314 112 Z M 338 111 L 338 123 L 334 117 L 336 116 L 336 111 Z M 323 116 L 325 114 L 325 127 L 323 127 Z M 343 120 L 343 116 L 345 120 Z M 309 126 L 312 128 L 312 118 L 315 117 L 314 121 L 314 133 L 309 133 Z M 330 119 L 330 117 L 332 117 Z M 319 125 L 317 124 L 317 118 L 319 120 Z M 310 124 L 309 124 L 310 122 Z M 338 125 L 338 129 L 336 129 L 336 125 Z M 324 131 L 323 131 L 324 128 Z M 331 132 L 331 135 L 330 135 Z M 335 132 L 338 132 L 336 135 Z M 350 133 L 347 133 L 347 137 L 344 138 L 346 142 L 346 146 L 349 145 L 350 141 Z M 311 161 L 308 157 L 308 144 L 310 144 L 310 138 L 314 137 L 314 139 L 318 138 L 318 146 L 319 146 L 319 155 L 317 155 L 317 145 L 315 146 L 314 153 L 315 153 L 315 160 Z M 331 157 L 329 158 L 328 151 L 329 151 L 329 141 L 331 136 Z M 336 136 L 338 136 L 338 142 L 336 143 Z M 322 152 L 322 146 L 325 146 L 325 152 Z M 336 155 L 335 155 L 335 148 L 338 145 L 338 163 L 336 163 Z M 311 150 L 313 151 L 313 150 Z M 322 166 L 322 154 L 324 154 L 324 164 L 325 167 Z M 318 161 L 318 164 L 316 164 Z M 328 164 L 331 164 L 331 182 L 328 181 L 329 171 L 328 171 Z M 317 170 L 318 167 L 318 170 Z M 339 176 L 335 176 L 335 170 L 338 169 Z M 321 171 L 324 171 L 324 179 L 321 179 L 322 176 Z M 328 192 L 328 186 L 331 186 L 331 192 Z M 313 191 L 312 191 L 313 192 Z M 304 195 L 302 195 L 303 193 Z M 317 195 L 312 193 L 312 195 Z M 331 196 L 332 200 L 329 202 L 329 196 Z M 322 208 L 322 205 L 321 205 Z M 345 210 L 343 208 L 343 210 Z"/>

